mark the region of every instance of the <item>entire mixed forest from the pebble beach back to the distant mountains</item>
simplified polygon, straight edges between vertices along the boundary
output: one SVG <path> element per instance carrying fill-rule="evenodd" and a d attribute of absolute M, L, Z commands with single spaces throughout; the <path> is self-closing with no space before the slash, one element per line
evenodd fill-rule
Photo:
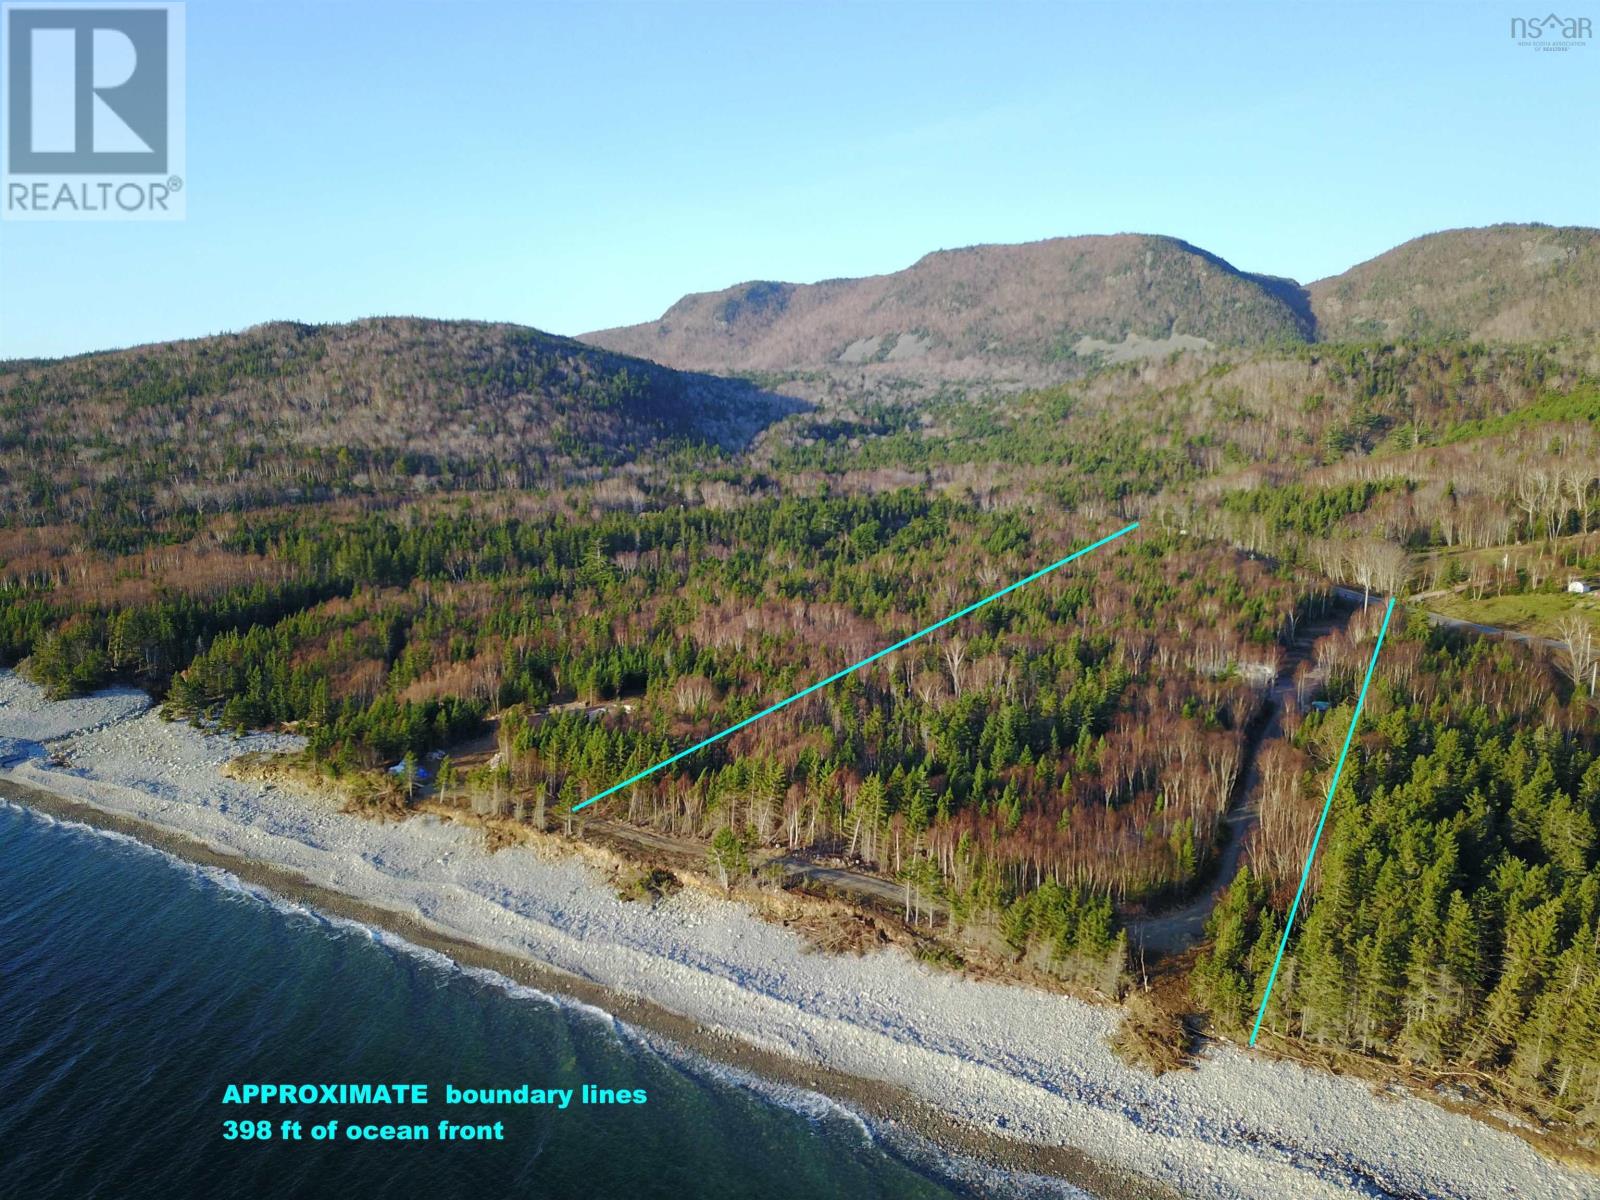
<path fill-rule="evenodd" d="M 430 762 L 438 803 L 651 830 L 730 886 L 758 851 L 838 862 L 1109 994 L 1144 918 L 1229 882 L 1245 805 L 1189 979 L 1240 1037 L 1374 635 L 1334 589 L 1400 595 L 1267 1035 L 1600 1128 L 1595 642 L 1427 616 L 1600 573 L 1592 362 L 1402 341 L 784 386 L 392 320 L 8 363 L 0 664 L 408 792 Z"/>

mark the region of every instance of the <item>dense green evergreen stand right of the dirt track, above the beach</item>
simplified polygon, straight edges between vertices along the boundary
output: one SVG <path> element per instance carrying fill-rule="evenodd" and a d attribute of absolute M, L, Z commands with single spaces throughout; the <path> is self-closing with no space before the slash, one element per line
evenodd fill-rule
<path fill-rule="evenodd" d="M 1326 648 L 1334 707 L 1294 720 L 1264 763 L 1250 866 L 1211 917 L 1194 989 L 1235 1035 L 1266 987 L 1362 658 L 1350 640 Z M 1368 704 L 1264 1030 L 1493 1072 L 1534 1107 L 1594 1126 L 1594 698 L 1523 650 L 1413 616 L 1386 646 Z"/>

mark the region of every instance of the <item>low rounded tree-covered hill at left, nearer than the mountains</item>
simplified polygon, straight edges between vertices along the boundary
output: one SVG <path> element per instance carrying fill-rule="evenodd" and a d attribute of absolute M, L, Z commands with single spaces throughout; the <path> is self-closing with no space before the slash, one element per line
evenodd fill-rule
<path fill-rule="evenodd" d="M 514 325 L 381 318 L 0 363 L 6 523 L 546 488 L 746 445 L 794 402 Z"/>

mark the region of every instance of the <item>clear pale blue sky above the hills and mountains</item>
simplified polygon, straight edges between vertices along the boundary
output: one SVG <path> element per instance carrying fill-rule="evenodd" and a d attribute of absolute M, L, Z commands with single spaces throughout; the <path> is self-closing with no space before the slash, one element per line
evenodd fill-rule
<path fill-rule="evenodd" d="M 573 334 L 1066 234 L 1312 280 L 1600 224 L 1600 40 L 1520 50 L 1522 8 L 194 0 L 187 221 L 0 224 L 0 357 L 373 314 Z"/>

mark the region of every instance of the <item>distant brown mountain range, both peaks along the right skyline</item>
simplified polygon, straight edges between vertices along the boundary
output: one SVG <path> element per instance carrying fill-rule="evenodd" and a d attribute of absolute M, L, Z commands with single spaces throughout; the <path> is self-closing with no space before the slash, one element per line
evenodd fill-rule
<path fill-rule="evenodd" d="M 579 339 L 702 371 L 1050 371 L 1277 342 L 1586 338 L 1597 294 L 1600 230 L 1584 226 L 1440 230 L 1309 285 L 1178 237 L 1094 234 L 936 250 L 859 278 L 747 280 Z"/>

